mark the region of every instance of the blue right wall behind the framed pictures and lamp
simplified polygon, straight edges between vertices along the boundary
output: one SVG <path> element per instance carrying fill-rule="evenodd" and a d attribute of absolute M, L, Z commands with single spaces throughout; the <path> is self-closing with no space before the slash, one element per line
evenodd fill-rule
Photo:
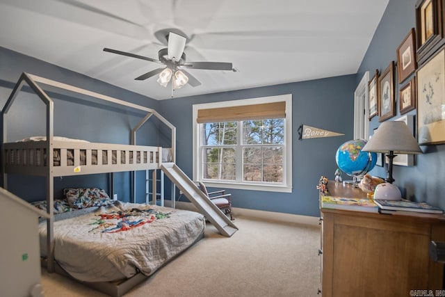
<path fill-rule="evenodd" d="M 411 28 L 415 28 L 415 3 L 416 0 L 390 0 L 382 17 L 382 20 L 375 31 L 374 38 L 369 45 L 369 49 L 359 67 L 357 83 L 362 78 L 364 72 L 369 70 L 373 75 L 375 69 L 384 71 L 390 61 L 397 61 L 396 49 L 401 44 Z M 415 74 L 412 74 L 414 76 Z M 396 111 L 397 115 L 389 120 L 394 120 L 400 116 L 398 91 L 410 78 L 398 84 L 397 71 L 395 72 L 396 86 Z M 416 115 L 416 110 L 407 113 Z M 414 122 L 416 122 L 414 120 Z M 378 117 L 374 117 L 370 122 L 370 130 L 378 127 Z M 445 146 L 444 145 L 422 145 L 423 154 L 415 156 L 415 166 L 394 166 L 393 175 L 396 184 L 401 188 L 402 195 L 410 200 L 425 200 L 431 204 L 445 208 L 445 200 L 442 199 L 445 193 L 444 169 L 445 168 Z M 386 177 L 384 168 L 375 167 L 371 174 Z"/>

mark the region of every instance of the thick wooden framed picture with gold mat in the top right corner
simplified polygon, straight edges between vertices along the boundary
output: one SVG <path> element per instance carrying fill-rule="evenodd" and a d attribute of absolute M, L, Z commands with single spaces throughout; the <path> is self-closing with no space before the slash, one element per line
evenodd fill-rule
<path fill-rule="evenodd" d="M 423 65 L 444 45 L 445 0 L 418 0 L 416 2 L 417 63 Z"/>

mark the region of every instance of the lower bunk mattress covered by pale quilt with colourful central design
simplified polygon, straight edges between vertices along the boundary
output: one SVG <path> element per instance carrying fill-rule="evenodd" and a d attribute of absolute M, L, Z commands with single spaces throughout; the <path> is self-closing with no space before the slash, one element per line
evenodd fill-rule
<path fill-rule="evenodd" d="M 204 232 L 194 211 L 116 202 L 55 216 L 54 258 L 72 277 L 85 282 L 151 275 L 191 246 Z M 40 251 L 47 250 L 47 224 L 39 224 Z"/>

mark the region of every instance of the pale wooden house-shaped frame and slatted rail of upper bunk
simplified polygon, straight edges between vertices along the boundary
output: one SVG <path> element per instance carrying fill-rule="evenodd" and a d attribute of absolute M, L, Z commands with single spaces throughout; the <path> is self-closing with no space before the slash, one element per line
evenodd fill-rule
<path fill-rule="evenodd" d="M 6 115 L 10 107 L 13 105 L 19 90 L 22 89 L 24 83 L 27 83 L 33 92 L 42 99 L 42 102 L 47 108 L 46 119 L 46 141 L 37 142 L 15 142 L 8 143 L 8 127 L 6 127 Z M 54 140 L 54 102 L 47 93 L 40 88 L 38 83 L 43 85 L 53 86 L 63 90 L 69 90 L 81 95 L 87 95 L 106 102 L 118 104 L 119 106 L 126 106 L 138 111 L 145 111 L 147 114 L 138 122 L 136 127 L 131 130 L 131 145 L 117 145 L 108 143 L 84 143 L 84 142 L 66 142 Z M 153 109 L 149 109 L 144 106 L 125 102 L 120 99 L 94 93 L 89 90 L 70 86 L 58 81 L 52 81 L 42 77 L 35 76 L 33 74 L 23 73 L 17 81 L 13 92 L 11 93 L 8 101 L 6 102 L 3 110 L 1 111 L 3 119 L 3 146 L 2 146 L 2 171 L 3 171 L 3 187 L 7 188 L 8 185 L 8 173 L 20 173 L 24 175 L 38 175 L 46 177 L 47 183 L 47 205 L 54 204 L 54 177 L 70 176 L 70 175 L 88 175 L 95 173 L 110 173 L 111 172 L 111 193 L 113 193 L 113 172 L 130 171 L 131 182 L 133 184 L 131 200 L 134 202 L 134 194 L 136 193 L 136 178 L 134 172 L 136 170 L 146 170 L 146 179 L 149 177 L 149 170 L 153 170 L 152 176 L 152 202 L 156 203 L 156 170 L 161 167 L 162 163 L 162 147 L 151 147 L 136 145 L 136 131 L 149 120 L 152 115 L 158 118 L 164 125 L 171 130 L 171 154 L 172 162 L 175 162 L 176 152 L 176 128 L 168 120 L 165 120 L 159 113 L 156 113 Z M 54 166 L 53 157 L 54 150 L 60 152 L 60 166 Z M 74 165 L 68 166 L 65 157 L 67 150 L 74 151 Z M 80 155 L 81 150 L 85 150 L 86 163 L 81 165 Z M 107 152 L 107 162 L 102 163 L 102 152 Z M 116 161 L 113 163 L 111 155 L 115 151 Z M 97 164 L 92 163 L 92 153 L 97 154 Z M 124 152 L 125 159 L 121 160 L 121 152 Z M 130 155 L 133 155 L 133 161 L 130 161 Z M 137 156 L 140 156 L 138 159 Z M 40 160 L 37 162 L 36 160 Z M 44 161 L 42 161 L 44 160 Z M 161 172 L 163 175 L 163 172 Z M 163 178 L 161 178 L 163 180 Z M 146 183 L 146 186 L 148 182 Z M 161 191 L 163 191 L 163 185 L 161 185 Z M 148 193 L 148 191 L 146 191 Z M 172 185 L 172 202 L 174 205 L 174 193 L 175 186 Z M 161 194 L 163 197 L 163 194 Z M 149 198 L 146 197 L 146 202 L 149 203 Z M 161 202 L 163 204 L 163 201 Z M 54 208 L 47 207 L 47 269 L 49 272 L 55 271 L 54 262 Z M 126 285 L 128 287 L 128 284 Z M 120 291 L 118 289 L 118 291 Z"/>

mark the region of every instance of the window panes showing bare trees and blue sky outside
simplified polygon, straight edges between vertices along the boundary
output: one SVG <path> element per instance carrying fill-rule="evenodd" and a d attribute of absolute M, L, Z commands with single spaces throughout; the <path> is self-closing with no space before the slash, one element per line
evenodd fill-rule
<path fill-rule="evenodd" d="M 241 182 L 283 182 L 284 119 L 213 122 L 201 127 L 204 179 L 236 181 L 236 164 L 241 163 Z"/>

